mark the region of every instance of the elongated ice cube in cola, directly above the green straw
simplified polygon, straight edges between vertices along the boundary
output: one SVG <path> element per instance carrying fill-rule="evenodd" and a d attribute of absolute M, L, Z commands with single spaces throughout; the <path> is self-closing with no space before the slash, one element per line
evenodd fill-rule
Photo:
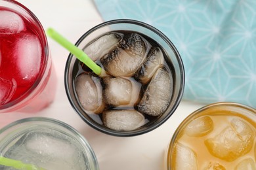
<path fill-rule="evenodd" d="M 108 33 L 89 44 L 89 46 L 86 46 L 84 52 L 95 61 L 105 54 L 108 54 L 115 46 L 117 46 L 120 40 L 120 35 L 116 33 Z"/>

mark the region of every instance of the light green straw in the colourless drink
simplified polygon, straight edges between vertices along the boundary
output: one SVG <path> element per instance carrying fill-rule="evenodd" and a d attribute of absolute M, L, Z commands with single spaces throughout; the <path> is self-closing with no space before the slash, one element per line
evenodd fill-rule
<path fill-rule="evenodd" d="M 12 160 L 10 158 L 5 158 L 3 156 L 0 156 L 0 165 L 4 165 L 4 166 L 7 166 L 7 167 L 13 167 L 15 169 L 45 170 L 41 167 L 36 167 L 35 165 L 26 164 L 26 163 L 23 163 L 22 161 Z"/>

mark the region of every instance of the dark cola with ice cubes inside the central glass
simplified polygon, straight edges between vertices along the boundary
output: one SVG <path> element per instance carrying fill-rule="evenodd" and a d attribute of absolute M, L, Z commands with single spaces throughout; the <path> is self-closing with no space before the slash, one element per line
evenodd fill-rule
<path fill-rule="evenodd" d="M 98 124 L 130 131 L 165 112 L 173 94 L 173 66 L 158 42 L 120 30 L 105 33 L 83 50 L 107 73 L 99 77 L 80 61 L 74 64 L 79 104 Z"/>

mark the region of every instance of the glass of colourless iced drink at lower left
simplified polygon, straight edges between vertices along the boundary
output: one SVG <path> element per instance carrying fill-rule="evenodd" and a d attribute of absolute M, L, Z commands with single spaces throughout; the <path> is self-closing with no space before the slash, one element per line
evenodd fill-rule
<path fill-rule="evenodd" d="M 99 169 L 87 140 L 73 127 L 52 118 L 25 118 L 0 129 L 0 156 L 37 169 Z M 0 165 L 0 169 L 13 168 Z"/>

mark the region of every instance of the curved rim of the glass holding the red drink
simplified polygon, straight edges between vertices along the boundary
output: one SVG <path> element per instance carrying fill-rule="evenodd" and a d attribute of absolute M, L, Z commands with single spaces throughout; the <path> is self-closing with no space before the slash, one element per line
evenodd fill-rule
<path fill-rule="evenodd" d="M 37 76 L 35 82 L 33 82 L 33 85 L 25 93 L 20 95 L 18 98 L 14 99 L 11 102 L 7 102 L 3 105 L 0 105 L 0 112 L 5 112 L 5 111 L 9 112 L 8 110 L 15 109 L 16 107 L 18 107 L 18 105 L 22 105 L 22 103 L 24 103 L 24 100 L 26 100 L 26 98 L 28 96 L 30 96 L 31 93 L 42 82 L 43 76 L 45 75 L 45 71 L 47 69 L 47 64 L 49 62 L 49 44 L 48 44 L 48 41 L 47 41 L 47 37 L 45 35 L 45 31 L 43 29 L 43 25 L 41 24 L 41 22 L 39 21 L 37 16 L 35 16 L 35 14 L 33 14 L 33 12 L 30 9 L 28 9 L 27 7 L 25 7 L 24 5 L 22 5 L 18 1 L 14 1 L 14 0 L 3 0 L 3 1 L 6 1 L 7 3 L 10 3 L 11 5 L 14 5 L 16 7 L 20 7 L 20 9 L 22 11 L 26 12 L 31 17 L 31 19 L 33 20 L 34 24 L 37 26 L 37 29 L 38 29 L 37 37 L 39 37 L 39 41 L 40 41 L 41 46 L 42 46 L 42 49 L 41 49 L 42 50 L 42 55 L 43 55 L 43 53 L 45 54 L 43 56 L 43 63 L 40 64 L 39 75 Z M 0 5 L 0 7 L 5 7 L 5 6 Z M 7 7 L 7 8 L 11 9 L 10 7 Z M 20 12 L 17 11 L 17 10 L 14 10 L 14 12 L 17 12 L 18 14 L 20 14 Z M 20 15 L 23 16 L 23 14 L 20 14 Z M 26 18 L 26 19 L 28 19 L 28 18 Z"/>

